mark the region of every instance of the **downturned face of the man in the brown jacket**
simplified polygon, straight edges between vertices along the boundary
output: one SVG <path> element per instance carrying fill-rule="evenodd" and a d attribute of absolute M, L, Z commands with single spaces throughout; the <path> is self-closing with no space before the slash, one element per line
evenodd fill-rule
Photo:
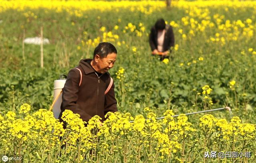
<path fill-rule="evenodd" d="M 105 58 L 100 58 L 99 55 L 95 56 L 96 71 L 99 73 L 106 73 L 109 69 L 114 67 L 116 61 L 116 53 L 109 53 Z"/>

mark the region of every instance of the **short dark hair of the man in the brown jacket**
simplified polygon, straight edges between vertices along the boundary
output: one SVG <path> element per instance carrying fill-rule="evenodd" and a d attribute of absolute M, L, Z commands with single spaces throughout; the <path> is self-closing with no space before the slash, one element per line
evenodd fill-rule
<path fill-rule="evenodd" d="M 94 49 L 93 58 L 95 57 L 96 54 L 98 54 L 101 58 L 105 58 L 110 53 L 117 54 L 116 47 L 114 47 L 114 45 L 112 45 L 111 43 L 102 42 L 102 43 L 99 43 L 99 45 Z"/>

